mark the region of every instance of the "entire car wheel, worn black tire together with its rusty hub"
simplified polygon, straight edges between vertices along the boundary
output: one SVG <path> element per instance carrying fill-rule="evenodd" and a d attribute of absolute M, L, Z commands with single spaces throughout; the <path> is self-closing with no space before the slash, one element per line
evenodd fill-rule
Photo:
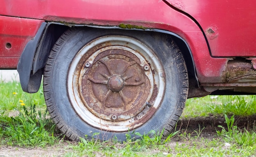
<path fill-rule="evenodd" d="M 127 43 L 132 40 L 129 44 L 134 45 L 122 45 L 124 43 L 122 41 L 121 48 L 119 48 L 118 45 L 120 44 L 111 42 L 110 37 L 117 41 L 128 41 Z M 108 45 L 109 41 L 106 41 L 103 44 L 104 46 L 101 43 L 91 46 L 93 45 L 92 41 L 99 41 L 101 38 L 110 40 L 111 44 Z M 135 43 L 132 43 L 134 41 Z M 138 42 L 136 43 L 136 41 Z M 111 48 L 111 45 L 114 45 L 114 48 Z M 89 50 L 85 54 L 78 56 L 87 47 L 89 47 Z M 109 54 L 107 54 L 107 51 L 101 50 L 106 47 Z M 146 56 L 146 58 L 138 60 L 140 55 L 137 52 L 138 50 L 130 50 L 134 47 L 142 47 L 141 49 L 146 49 L 145 52 L 149 54 L 143 54 L 145 52 L 142 52 L 142 56 Z M 99 49 L 100 53 L 97 52 Z M 114 49 L 114 52 L 111 49 Z M 119 52 L 117 52 L 117 49 Z M 130 52 L 127 52 L 129 50 Z M 147 58 L 147 55 L 150 56 L 151 51 L 154 57 L 150 59 L 150 57 Z M 127 54 L 124 54 L 124 52 L 127 52 Z M 95 61 L 89 62 L 93 54 L 95 54 L 95 57 L 93 57 Z M 101 54 L 103 56 L 100 56 Z M 155 58 L 155 60 L 153 61 L 152 58 Z M 76 60 L 78 61 L 77 64 L 75 63 Z M 128 64 L 129 61 L 134 63 Z M 143 62 L 144 64 L 144 61 L 147 63 L 145 63 L 144 67 L 140 67 L 140 63 L 142 64 Z M 120 62 L 119 65 L 125 64 L 126 69 L 121 66 L 121 68 L 125 69 L 122 70 L 122 76 L 113 74 L 117 73 L 115 70 L 118 71 L 120 69 L 120 67 L 114 67 L 113 64 L 118 64 L 114 62 Z M 152 65 L 152 62 L 160 63 L 160 65 Z M 160 70 L 155 69 L 157 66 Z M 102 71 L 104 68 L 106 69 Z M 108 68 L 111 70 L 108 70 Z M 81 70 L 84 72 L 82 73 Z M 141 84 L 129 84 L 128 76 L 124 78 L 123 75 L 126 73 L 128 75 L 130 71 L 132 72 L 132 78 L 136 76 L 138 77 L 136 81 L 142 80 Z M 101 77 L 98 76 L 99 73 L 105 73 L 101 74 L 101 76 L 106 77 L 108 81 L 95 81 L 94 78 L 99 79 Z M 118 80 L 119 84 L 114 83 L 112 85 L 113 81 L 110 82 L 110 79 L 113 80 L 113 78 Z M 162 81 L 160 82 L 162 85 L 157 84 L 157 79 L 159 79 L 159 82 Z M 80 84 L 76 85 L 76 80 L 81 83 L 79 82 Z M 154 81 L 154 84 L 152 84 L 152 81 Z M 70 89 L 71 87 L 74 87 L 75 90 L 73 88 Z M 168 35 L 149 31 L 71 28 L 57 40 L 52 48 L 45 66 L 43 88 L 47 109 L 56 126 L 61 132 L 65 133 L 66 137 L 72 140 L 79 140 L 80 137 L 85 137 L 85 135 L 91 138 L 94 133 L 98 132 L 98 139 L 108 140 L 115 137 L 120 141 L 124 141 L 126 140 L 126 134 L 133 131 L 143 135 L 150 130 L 162 131 L 164 129 L 164 136 L 169 134 L 182 114 L 186 102 L 188 75 L 182 53 Z M 97 95 L 98 93 L 94 91 L 95 89 L 101 94 Z M 107 92 L 104 93 L 100 89 Z M 129 92 L 130 89 L 133 92 Z M 72 91 L 75 92 L 72 93 Z M 121 93 L 121 91 L 124 92 Z M 77 92 L 79 93 L 78 97 Z M 141 96 L 141 93 L 141 99 L 136 98 L 134 100 L 132 97 L 127 96 L 127 94 L 133 94 L 131 96 L 140 94 L 139 96 Z M 112 100 L 114 98 L 117 100 Z M 97 104 L 99 101 L 99 105 L 92 104 L 94 101 L 97 101 Z M 81 102 L 86 104 L 81 104 Z M 136 111 L 132 110 L 133 107 L 130 103 L 134 105 Z M 156 103 L 158 105 L 155 105 Z M 119 104 L 122 104 L 121 107 Z M 82 107 L 80 107 L 81 105 Z M 97 111 L 98 109 L 99 112 Z M 86 110 L 86 114 L 81 112 L 83 110 Z M 92 115 L 90 114 L 91 111 L 93 112 Z M 133 111 L 134 113 L 130 113 Z M 110 115 L 109 112 L 113 112 L 113 114 Z M 88 114 L 90 116 L 86 117 Z M 128 115 L 130 115 L 130 119 L 127 119 Z M 95 118 L 90 119 L 90 117 L 94 116 L 96 119 L 99 117 L 95 121 L 100 121 L 100 123 L 94 125 Z M 122 119 L 122 116 L 126 118 Z M 139 117 L 143 118 L 139 119 Z M 138 123 L 136 123 L 137 121 Z M 117 128 L 115 128 L 115 123 L 119 125 Z M 123 124 L 124 126 L 122 126 Z M 109 126 L 107 125 L 114 129 L 108 130 Z"/>

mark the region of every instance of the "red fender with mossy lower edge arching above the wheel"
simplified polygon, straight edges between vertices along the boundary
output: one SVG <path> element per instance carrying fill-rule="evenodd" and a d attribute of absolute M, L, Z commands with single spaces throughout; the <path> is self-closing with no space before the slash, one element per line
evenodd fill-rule
<path fill-rule="evenodd" d="M 229 59 L 211 57 L 207 41 L 198 24 L 164 1 L 110 0 L 106 3 L 104 0 L 93 2 L 76 0 L 76 2 L 61 2 L 62 4 L 59 5 L 59 1 L 23 0 L 10 4 L 6 0 L 0 6 L 0 15 L 53 21 L 69 27 L 87 25 L 171 32 L 186 41 L 193 56 L 198 80 L 201 83 L 222 82 L 223 80 L 222 72 Z M 20 7 L 22 5 L 28 8 Z"/>

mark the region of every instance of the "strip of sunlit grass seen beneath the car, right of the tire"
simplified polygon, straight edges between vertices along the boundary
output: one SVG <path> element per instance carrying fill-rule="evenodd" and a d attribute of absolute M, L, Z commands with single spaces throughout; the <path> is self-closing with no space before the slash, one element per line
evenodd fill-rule
<path fill-rule="evenodd" d="M 182 114 L 186 117 L 207 117 L 209 114 L 247 116 L 256 113 L 256 96 L 204 96 L 188 99 Z"/>

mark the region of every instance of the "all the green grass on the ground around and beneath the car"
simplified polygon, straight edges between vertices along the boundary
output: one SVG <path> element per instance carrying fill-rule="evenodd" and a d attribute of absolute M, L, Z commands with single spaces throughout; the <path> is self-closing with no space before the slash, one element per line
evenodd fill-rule
<path fill-rule="evenodd" d="M 217 126 L 211 138 L 203 137 L 207 128 L 198 125 L 193 135 L 186 130 L 179 130 L 162 138 L 160 132 L 150 132 L 120 143 L 110 141 L 81 139 L 80 142 L 69 142 L 60 137 L 55 125 L 45 112 L 43 90 L 28 94 L 22 92 L 19 83 L 0 82 L 0 146 L 45 147 L 58 146 L 62 142 L 70 143 L 65 156 L 152 156 L 152 157 L 190 157 L 190 156 L 255 156 L 255 128 L 238 128 L 234 116 L 248 116 L 256 112 L 255 96 L 205 96 L 189 99 L 182 119 L 195 117 L 224 116 L 226 126 Z M 22 104 L 24 103 L 24 104 Z M 15 114 L 13 114 L 15 113 Z M 12 115 L 12 117 L 10 117 Z M 229 115 L 229 116 L 227 116 Z M 217 131 L 216 131 L 217 130 Z M 226 143 L 230 144 L 227 145 Z"/>

